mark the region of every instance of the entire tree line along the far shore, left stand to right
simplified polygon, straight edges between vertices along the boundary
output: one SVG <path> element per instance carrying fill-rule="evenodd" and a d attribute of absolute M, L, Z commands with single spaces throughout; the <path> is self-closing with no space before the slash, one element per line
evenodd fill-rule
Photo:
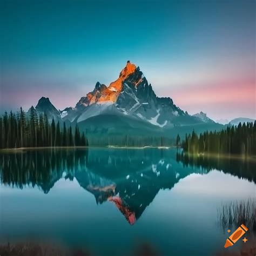
<path fill-rule="evenodd" d="M 90 146 L 116 147 L 171 147 L 175 140 L 169 137 L 153 136 L 96 136 L 90 138 Z M 49 121 L 45 113 L 37 113 L 31 107 L 29 113 L 22 109 L 17 113 L 5 112 L 0 116 L 0 149 L 24 147 L 78 147 L 89 146 L 88 138 L 79 130 L 64 123 Z M 179 134 L 176 146 L 191 154 L 225 154 L 256 156 L 256 122 L 227 126 L 221 131 L 205 131 L 186 134 L 181 140 Z"/>

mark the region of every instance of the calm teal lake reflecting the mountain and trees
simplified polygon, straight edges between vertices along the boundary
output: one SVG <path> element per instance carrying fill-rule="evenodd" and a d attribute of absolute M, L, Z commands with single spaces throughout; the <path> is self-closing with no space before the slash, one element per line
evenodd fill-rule
<path fill-rule="evenodd" d="M 176 149 L 38 149 L 2 152 L 0 168 L 1 242 L 214 256 L 243 246 L 224 249 L 228 229 L 245 224 L 248 242 L 256 235 L 254 161 L 195 160 Z"/>

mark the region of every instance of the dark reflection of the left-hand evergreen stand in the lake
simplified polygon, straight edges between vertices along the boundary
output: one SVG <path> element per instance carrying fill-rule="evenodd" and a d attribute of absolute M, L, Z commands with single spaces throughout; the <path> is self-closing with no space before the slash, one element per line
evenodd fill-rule
<path fill-rule="evenodd" d="M 63 172 L 73 178 L 75 169 L 84 169 L 87 151 L 28 150 L 0 154 L 1 182 L 18 188 L 38 186 L 48 193 Z"/>

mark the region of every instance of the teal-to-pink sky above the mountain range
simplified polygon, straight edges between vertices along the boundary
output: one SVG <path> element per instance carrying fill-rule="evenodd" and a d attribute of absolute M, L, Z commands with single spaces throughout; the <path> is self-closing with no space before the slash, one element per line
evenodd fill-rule
<path fill-rule="evenodd" d="M 256 118 L 254 0 L 2 0 L 0 14 L 0 112 L 75 106 L 130 60 L 190 114 Z"/>

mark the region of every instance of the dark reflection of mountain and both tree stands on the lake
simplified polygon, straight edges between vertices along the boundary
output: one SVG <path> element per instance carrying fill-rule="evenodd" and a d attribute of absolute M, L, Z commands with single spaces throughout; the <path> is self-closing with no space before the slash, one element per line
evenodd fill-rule
<path fill-rule="evenodd" d="M 2 153 L 0 166 L 2 184 L 21 189 L 37 186 L 44 193 L 60 178 L 75 178 L 95 196 L 97 204 L 110 201 L 131 225 L 159 190 L 171 190 L 191 173 L 203 174 L 214 168 L 254 183 L 256 180 L 255 163 L 194 159 L 176 156 L 175 150 L 158 149 L 26 150 Z"/>

